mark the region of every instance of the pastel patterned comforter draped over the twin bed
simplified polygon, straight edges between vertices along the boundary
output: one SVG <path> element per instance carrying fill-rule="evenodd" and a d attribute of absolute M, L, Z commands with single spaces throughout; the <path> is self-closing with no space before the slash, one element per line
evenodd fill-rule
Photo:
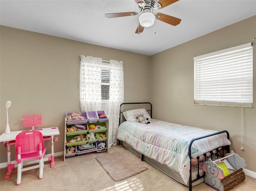
<path fill-rule="evenodd" d="M 187 184 L 190 171 L 190 141 L 214 132 L 216 131 L 152 119 L 150 124 L 123 122 L 118 128 L 117 138 L 144 156 L 175 170 Z M 224 134 L 196 140 L 191 148 L 192 158 L 225 145 L 230 145 L 230 141 Z"/>

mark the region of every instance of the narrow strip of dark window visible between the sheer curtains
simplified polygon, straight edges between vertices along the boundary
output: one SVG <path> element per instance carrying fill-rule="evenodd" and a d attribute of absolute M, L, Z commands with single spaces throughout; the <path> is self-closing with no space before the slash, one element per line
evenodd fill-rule
<path fill-rule="evenodd" d="M 101 70 L 101 100 L 109 100 L 110 68 L 104 65 Z"/>

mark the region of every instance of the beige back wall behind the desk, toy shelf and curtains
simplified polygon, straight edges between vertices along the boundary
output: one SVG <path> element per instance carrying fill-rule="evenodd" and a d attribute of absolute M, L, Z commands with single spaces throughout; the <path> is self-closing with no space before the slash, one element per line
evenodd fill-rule
<path fill-rule="evenodd" d="M 54 152 L 62 152 L 64 116 L 80 111 L 80 55 L 123 61 L 124 101 L 149 101 L 149 56 L 4 26 L 0 28 L 0 47 L 1 134 L 6 127 L 5 104 L 10 100 L 10 129 L 26 129 L 19 121 L 23 115 L 42 114 L 40 127 L 59 127 Z M 49 154 L 50 142 L 45 144 Z M 0 152 L 0 163 L 6 162 L 3 143 Z"/>

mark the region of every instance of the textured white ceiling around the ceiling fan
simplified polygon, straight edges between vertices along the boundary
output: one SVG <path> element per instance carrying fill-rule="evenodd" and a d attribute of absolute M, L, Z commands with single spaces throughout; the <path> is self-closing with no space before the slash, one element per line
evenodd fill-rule
<path fill-rule="evenodd" d="M 134 0 L 0 0 L 0 24 L 153 55 L 256 15 L 256 0 L 180 0 L 154 11 L 180 18 L 179 25 L 156 20 L 140 35 L 138 15 L 104 16 L 133 11 Z"/>

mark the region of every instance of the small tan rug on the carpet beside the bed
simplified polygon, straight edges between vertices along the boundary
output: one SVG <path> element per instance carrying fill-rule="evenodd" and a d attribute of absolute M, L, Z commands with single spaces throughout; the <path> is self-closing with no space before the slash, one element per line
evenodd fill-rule
<path fill-rule="evenodd" d="M 96 159 L 114 181 L 120 181 L 148 169 L 140 164 L 140 158 L 131 158 L 127 153 L 104 153 Z"/>

